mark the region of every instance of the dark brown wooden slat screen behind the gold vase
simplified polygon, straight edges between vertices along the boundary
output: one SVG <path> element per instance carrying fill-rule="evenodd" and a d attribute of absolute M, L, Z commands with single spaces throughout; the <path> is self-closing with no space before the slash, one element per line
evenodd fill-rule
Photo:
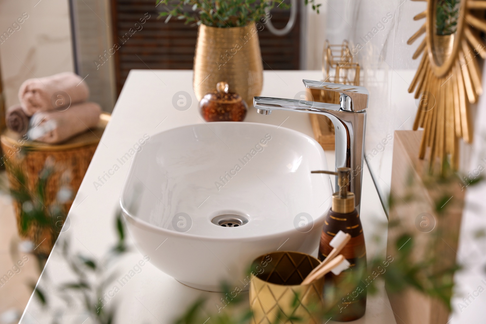
<path fill-rule="evenodd" d="M 185 25 L 183 20 L 174 17 L 166 24 L 164 18 L 157 18 L 159 8 L 155 3 L 156 0 L 111 2 L 113 40 L 120 46 L 115 51 L 118 93 L 132 68 L 192 69 L 197 26 Z M 286 25 L 289 11 L 272 10 L 272 22 L 276 28 Z M 143 18 L 146 21 L 140 29 L 140 19 L 143 21 Z M 276 36 L 268 28 L 258 34 L 263 68 L 299 69 L 300 19 L 297 18 L 294 29 L 287 35 Z"/>

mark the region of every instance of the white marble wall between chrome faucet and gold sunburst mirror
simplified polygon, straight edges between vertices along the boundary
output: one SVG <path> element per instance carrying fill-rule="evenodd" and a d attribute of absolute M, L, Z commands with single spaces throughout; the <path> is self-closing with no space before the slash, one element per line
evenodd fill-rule
<path fill-rule="evenodd" d="M 412 55 L 423 39 L 407 40 L 423 24 L 413 17 L 426 2 L 411 0 L 329 0 L 327 38 L 348 39 L 361 65 L 362 84 L 370 92 L 365 154 L 386 207 L 391 183 L 393 135 L 412 129 L 417 102 L 408 87 L 418 67 Z"/>

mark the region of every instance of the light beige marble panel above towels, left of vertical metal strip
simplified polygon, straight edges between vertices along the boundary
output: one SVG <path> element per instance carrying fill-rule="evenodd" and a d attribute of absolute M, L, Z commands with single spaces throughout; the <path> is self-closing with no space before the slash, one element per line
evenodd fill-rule
<path fill-rule="evenodd" d="M 68 0 L 0 1 L 0 34 L 7 107 L 26 79 L 74 70 Z"/>

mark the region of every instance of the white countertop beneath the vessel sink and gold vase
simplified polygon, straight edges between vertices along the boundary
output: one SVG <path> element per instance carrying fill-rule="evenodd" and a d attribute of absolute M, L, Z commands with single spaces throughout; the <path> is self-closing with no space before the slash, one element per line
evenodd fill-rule
<path fill-rule="evenodd" d="M 261 95 L 298 97 L 299 92 L 305 90 L 302 85 L 304 78 L 320 80 L 321 72 L 265 71 Z M 173 97 L 178 91 L 186 91 L 191 96 L 192 104 L 185 111 L 177 110 L 173 106 Z M 256 109 L 249 108 L 245 121 L 281 125 L 312 136 L 309 116 L 303 113 L 274 111 L 270 116 L 262 116 L 257 114 Z M 70 238 L 74 251 L 101 258 L 107 248 L 116 241 L 114 215 L 119 207 L 119 194 L 128 171 L 129 163 L 120 165 L 117 159 L 129 152 L 144 134 L 152 136 L 174 127 L 201 122 L 203 119 L 198 113 L 197 100 L 192 90 L 192 71 L 132 70 L 69 211 L 69 229 L 61 233 L 60 239 Z M 329 165 L 333 166 L 333 152 L 326 154 Z M 94 182 L 99 182 L 98 177 L 103 176 L 104 172 L 112 169 L 115 164 L 120 166 L 120 170 L 109 178 L 105 177 L 107 181 L 101 187 L 95 188 Z M 372 244 L 372 235 L 376 234 L 375 226 L 379 222 L 386 222 L 386 217 L 367 168 L 364 169 L 363 176 L 361 219 L 368 258 L 371 258 L 379 250 Z M 386 241 L 386 231 L 379 234 L 383 241 Z M 129 244 L 133 246 L 130 239 Z M 380 251 L 383 251 L 382 248 Z M 53 290 L 49 282 L 60 283 L 69 278 L 68 266 L 59 250 L 60 246 L 56 245 L 38 283 L 39 287 L 46 291 L 48 298 Z M 133 247 L 132 252 L 108 268 L 110 271 L 116 270 L 121 277 L 132 270 L 141 259 L 143 256 Z M 382 283 L 380 285 L 382 287 Z M 245 294 L 247 296 L 247 293 Z M 207 295 L 215 301 L 220 298 L 218 293 L 184 286 L 147 263 L 108 303 L 112 304 L 111 306 L 118 305 L 115 323 L 165 324 L 172 323 L 175 317 L 201 295 Z M 53 309 L 52 305 L 55 305 L 55 302 L 43 308 L 35 297 L 31 297 L 20 323 L 50 323 L 51 320 L 48 318 L 49 312 Z M 215 311 L 216 307 L 209 309 Z M 62 323 L 93 323 L 85 313 L 72 311 L 68 315 L 65 318 L 70 321 L 65 320 Z M 352 323 L 396 323 L 383 289 L 375 296 L 368 296 L 366 314 L 362 319 Z"/>

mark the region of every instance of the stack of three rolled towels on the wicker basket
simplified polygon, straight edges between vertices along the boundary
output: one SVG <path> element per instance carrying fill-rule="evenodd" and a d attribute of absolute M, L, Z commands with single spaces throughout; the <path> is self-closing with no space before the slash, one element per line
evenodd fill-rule
<path fill-rule="evenodd" d="M 26 80 L 18 91 L 19 105 L 5 115 L 7 127 L 29 139 L 56 144 L 98 124 L 101 107 L 86 102 L 89 89 L 72 72 Z"/>

